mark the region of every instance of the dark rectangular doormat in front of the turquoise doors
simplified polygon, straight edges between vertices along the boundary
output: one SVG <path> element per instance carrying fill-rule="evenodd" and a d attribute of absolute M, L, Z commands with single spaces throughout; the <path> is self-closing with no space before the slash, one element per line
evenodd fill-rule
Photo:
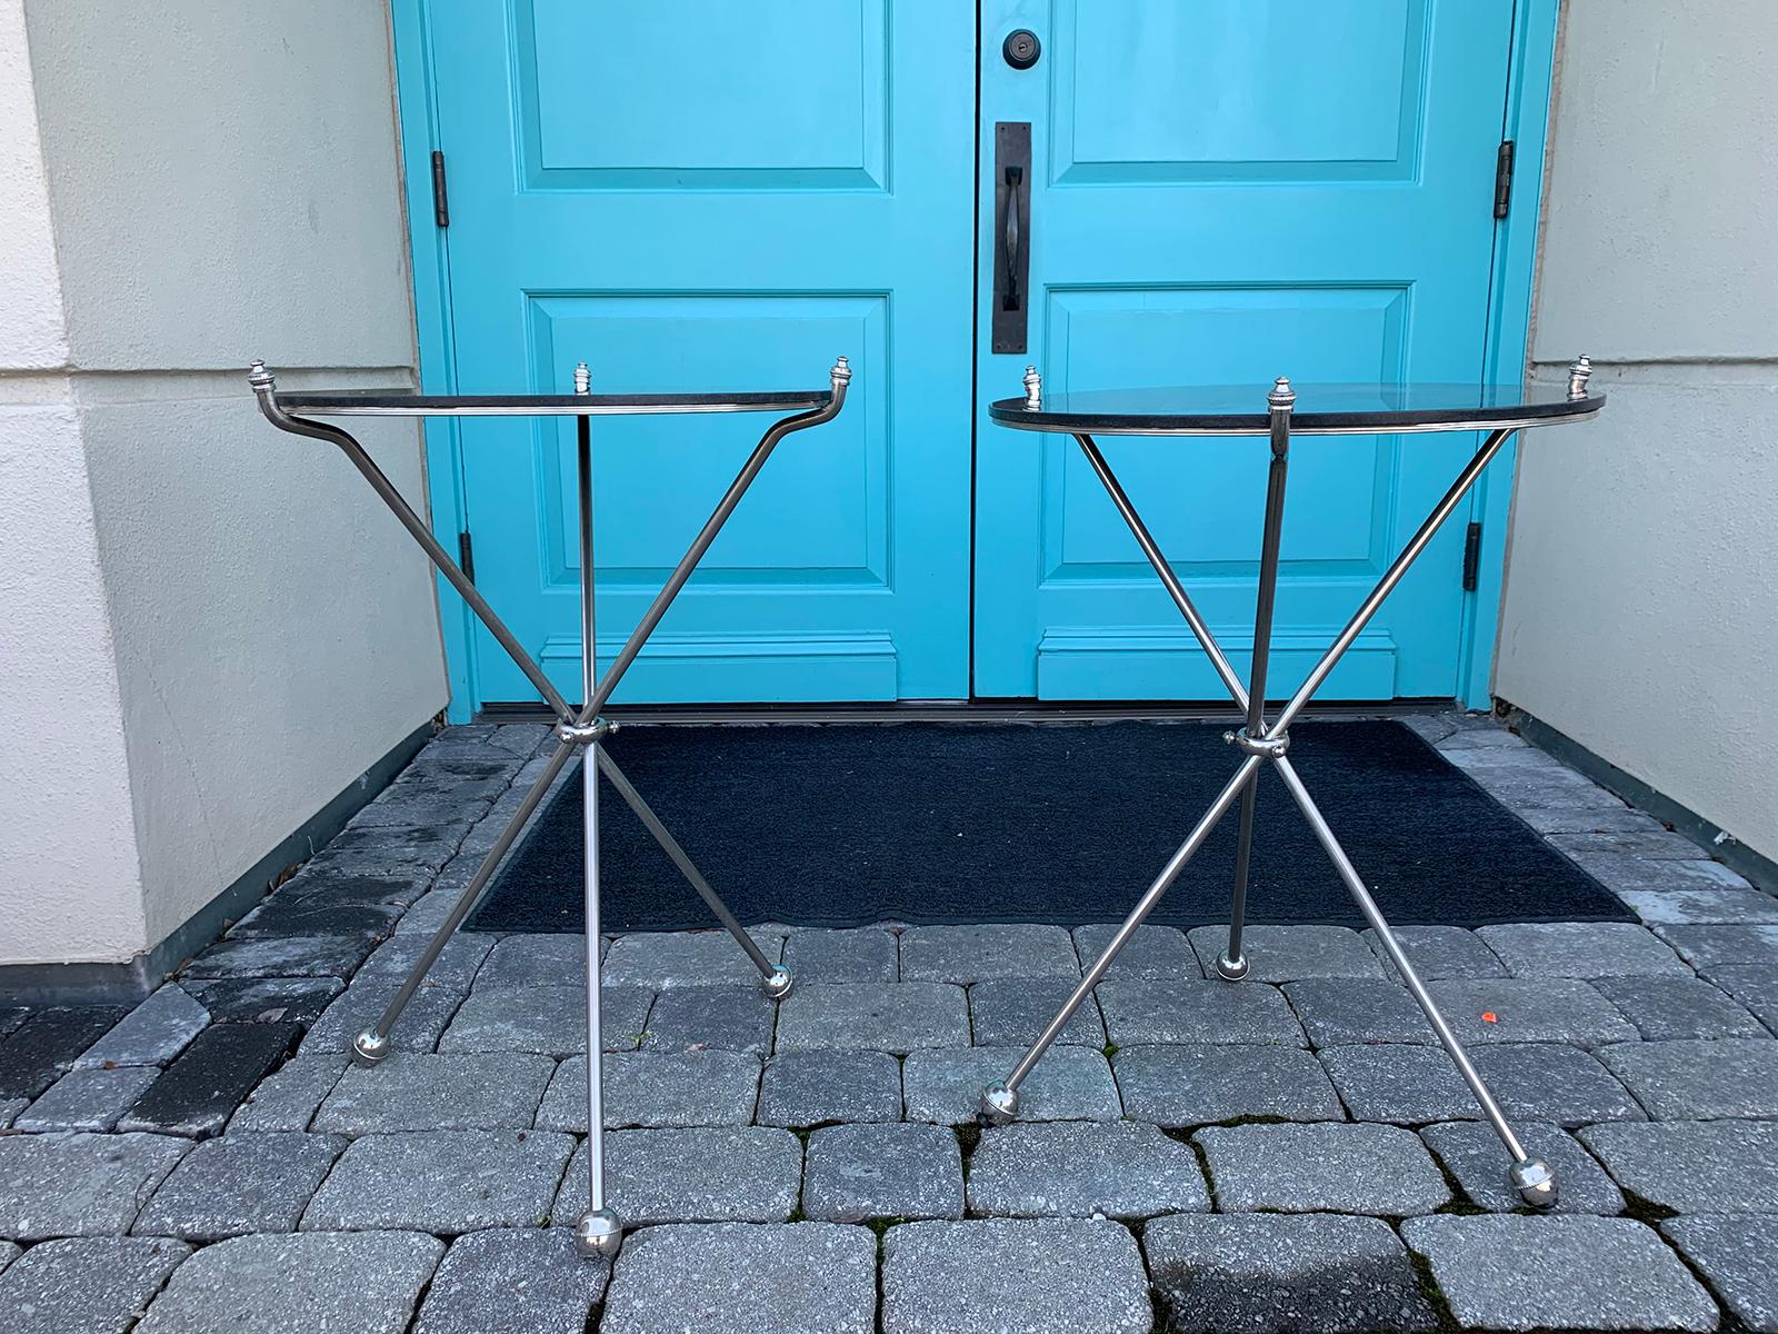
<path fill-rule="evenodd" d="M 1209 724 L 629 726 L 642 797 L 747 923 L 1118 921 L 1234 772 Z M 1298 722 L 1291 759 L 1392 923 L 1627 921 L 1611 891 L 1399 722 Z M 1149 918 L 1227 921 L 1236 813 Z M 606 930 L 715 918 L 606 783 Z M 1261 772 L 1253 921 L 1364 920 Z M 473 930 L 585 930 L 580 774 L 544 808 Z"/>

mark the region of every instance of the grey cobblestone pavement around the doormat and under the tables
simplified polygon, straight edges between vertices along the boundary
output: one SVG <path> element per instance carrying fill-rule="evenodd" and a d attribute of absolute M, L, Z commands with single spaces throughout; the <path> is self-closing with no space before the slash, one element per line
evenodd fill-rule
<path fill-rule="evenodd" d="M 1646 923 L 1403 932 L 1549 1217 L 1357 932 L 1255 928 L 1229 985 L 1218 932 L 1145 928 L 978 1129 L 1108 928 L 761 927 L 782 1007 L 717 932 L 610 944 L 633 1231 L 580 1261 L 578 937 L 461 936 L 345 1057 L 539 763 L 477 726 L 133 1010 L 0 1001 L 0 1327 L 1778 1330 L 1778 900 L 1486 720 L 1414 726 Z"/>

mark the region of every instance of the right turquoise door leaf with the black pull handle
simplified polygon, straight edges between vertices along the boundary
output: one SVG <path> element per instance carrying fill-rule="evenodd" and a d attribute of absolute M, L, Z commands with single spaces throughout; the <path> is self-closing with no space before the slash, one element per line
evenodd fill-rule
<path fill-rule="evenodd" d="M 1033 28 L 1015 71 L 1003 37 Z M 989 0 L 978 217 L 996 121 L 1029 121 L 1029 350 L 978 340 L 976 672 L 989 697 L 1221 699 L 1072 441 L 987 422 L 1044 388 L 1478 381 L 1511 5 Z M 978 322 L 992 292 L 981 285 Z M 1268 450 L 1102 441 L 1245 671 Z M 1291 455 L 1271 688 L 1287 694 L 1474 438 L 1305 438 Z M 1330 699 L 1456 694 L 1462 521 L 1332 676 Z"/>

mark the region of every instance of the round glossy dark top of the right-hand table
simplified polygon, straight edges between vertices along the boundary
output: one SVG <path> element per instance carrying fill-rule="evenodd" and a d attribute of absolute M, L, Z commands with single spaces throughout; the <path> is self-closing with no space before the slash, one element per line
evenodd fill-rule
<path fill-rule="evenodd" d="M 1579 422 L 1606 395 L 1566 384 L 1294 384 L 1293 436 L 1490 430 Z M 1042 406 L 1001 398 L 989 416 L 1021 430 L 1102 436 L 1264 436 L 1269 384 L 1045 393 Z"/>

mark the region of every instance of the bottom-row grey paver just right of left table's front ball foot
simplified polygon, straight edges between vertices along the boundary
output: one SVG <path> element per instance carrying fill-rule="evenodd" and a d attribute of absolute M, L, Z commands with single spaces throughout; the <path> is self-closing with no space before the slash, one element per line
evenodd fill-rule
<path fill-rule="evenodd" d="M 877 1238 L 866 1227 L 644 1227 L 624 1242 L 603 1334 L 873 1334 Z"/>

